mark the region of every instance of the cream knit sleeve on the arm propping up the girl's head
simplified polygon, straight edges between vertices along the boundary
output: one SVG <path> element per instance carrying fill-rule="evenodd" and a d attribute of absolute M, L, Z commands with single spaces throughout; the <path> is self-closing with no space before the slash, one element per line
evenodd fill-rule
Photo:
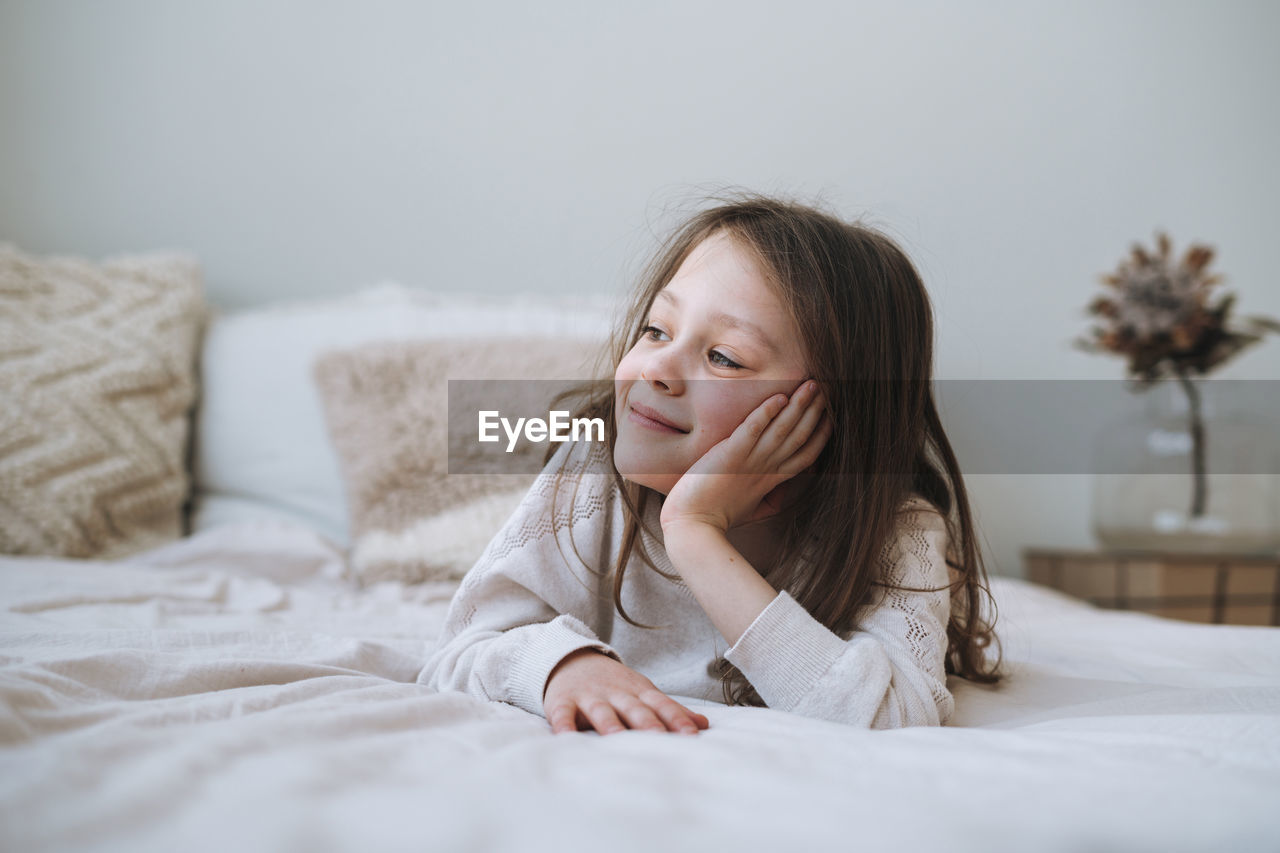
<path fill-rule="evenodd" d="M 946 525 L 932 510 L 906 517 L 882 556 L 882 579 L 937 592 L 884 590 L 847 640 L 780 592 L 724 653 L 768 707 L 870 729 L 950 720 Z"/>

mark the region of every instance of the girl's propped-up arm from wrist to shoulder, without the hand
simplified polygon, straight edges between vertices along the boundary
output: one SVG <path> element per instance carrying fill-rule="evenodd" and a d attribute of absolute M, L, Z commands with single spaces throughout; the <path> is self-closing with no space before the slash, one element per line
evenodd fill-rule
<path fill-rule="evenodd" d="M 722 533 L 664 529 L 663 537 L 672 564 L 732 644 L 726 660 L 768 707 L 870 729 L 936 726 L 951 717 L 946 526 L 932 508 L 906 516 L 881 576 L 938 592 L 886 590 L 847 640 L 785 590 L 769 597 L 765 588 L 772 587 Z"/>

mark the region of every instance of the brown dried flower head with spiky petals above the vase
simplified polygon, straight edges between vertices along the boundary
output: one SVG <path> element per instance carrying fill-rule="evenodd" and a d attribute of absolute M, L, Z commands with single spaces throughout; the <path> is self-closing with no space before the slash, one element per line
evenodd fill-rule
<path fill-rule="evenodd" d="M 1268 332 L 1280 332 L 1271 318 L 1244 318 L 1228 327 L 1235 300 L 1224 295 L 1210 305 L 1210 291 L 1221 280 L 1207 269 L 1213 260 L 1208 246 L 1190 246 L 1174 263 L 1169 237 L 1156 234 L 1156 251 L 1134 245 L 1130 256 L 1102 280 L 1114 293 L 1098 296 L 1089 306 L 1101 318 L 1093 338 L 1075 345 L 1088 352 L 1112 352 L 1129 359 L 1129 375 L 1139 384 L 1167 377 L 1207 374 Z"/>

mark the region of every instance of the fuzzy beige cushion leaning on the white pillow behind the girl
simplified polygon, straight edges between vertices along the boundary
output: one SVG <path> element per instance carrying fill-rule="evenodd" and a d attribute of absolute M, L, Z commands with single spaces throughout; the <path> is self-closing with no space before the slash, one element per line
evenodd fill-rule
<path fill-rule="evenodd" d="M 454 383 L 454 416 L 467 393 L 498 388 L 503 415 L 545 418 L 545 405 L 531 403 L 591 377 L 602 347 L 572 338 L 426 339 L 321 353 L 312 374 L 342 470 L 353 573 L 364 583 L 461 578 L 541 467 L 547 443 L 521 441 L 507 455 L 503 438 L 480 453 L 474 424 L 451 430 L 449 379 L 513 380 Z M 543 382 L 552 379 L 563 382 Z"/>

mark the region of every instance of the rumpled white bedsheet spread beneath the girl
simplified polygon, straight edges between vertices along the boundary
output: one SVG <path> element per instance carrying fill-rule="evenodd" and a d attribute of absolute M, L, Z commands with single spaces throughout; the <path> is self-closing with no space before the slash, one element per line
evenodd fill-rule
<path fill-rule="evenodd" d="M 552 735 L 413 683 L 453 587 L 284 521 L 0 560 L 0 849 L 1280 849 L 1280 629 L 995 578 L 1011 675 L 945 729 Z"/>

